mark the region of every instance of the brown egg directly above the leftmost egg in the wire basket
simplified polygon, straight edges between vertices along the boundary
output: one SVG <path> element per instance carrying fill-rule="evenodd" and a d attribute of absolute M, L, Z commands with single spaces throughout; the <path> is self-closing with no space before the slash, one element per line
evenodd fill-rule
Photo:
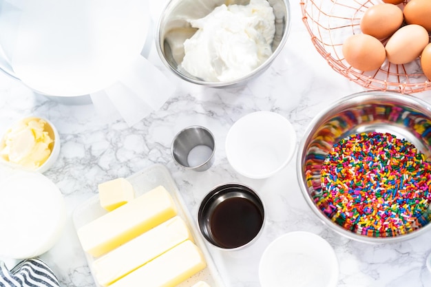
<path fill-rule="evenodd" d="M 394 4 L 377 4 L 366 10 L 361 19 L 361 31 L 386 39 L 397 31 L 403 23 L 403 11 Z"/>

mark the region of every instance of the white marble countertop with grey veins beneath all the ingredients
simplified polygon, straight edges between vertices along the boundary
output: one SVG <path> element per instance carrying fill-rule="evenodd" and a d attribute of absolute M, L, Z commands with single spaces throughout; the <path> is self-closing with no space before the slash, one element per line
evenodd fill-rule
<path fill-rule="evenodd" d="M 94 286 L 72 224 L 76 206 L 96 194 L 98 183 L 131 176 L 155 163 L 169 169 L 193 216 L 200 200 L 218 184 L 241 182 L 262 196 L 267 209 L 266 225 L 252 246 L 234 253 L 209 246 L 226 286 L 260 286 L 257 268 L 264 248 L 291 231 L 316 233 L 333 246 L 339 261 L 339 287 L 431 286 L 431 273 L 425 267 L 425 258 L 431 252 L 431 233 L 394 244 L 348 240 L 330 231 L 306 205 L 297 183 L 295 158 L 266 180 L 244 178 L 227 162 L 224 140 L 240 117 L 252 111 L 275 111 L 291 121 L 299 142 L 308 123 L 322 108 L 364 90 L 326 64 L 302 23 L 299 2 L 292 1 L 291 8 L 291 33 L 284 50 L 269 70 L 244 87 L 215 89 L 181 82 L 162 66 L 153 47 L 148 59 L 178 88 L 160 110 L 133 127 L 123 120 L 105 123 L 91 104 L 64 104 L 34 94 L 0 74 L 1 131 L 30 114 L 48 118 L 59 130 L 60 156 L 45 176 L 64 195 L 67 225 L 59 242 L 41 258 L 53 268 L 62 286 Z M 417 96 L 431 103 L 429 94 Z M 215 162 L 207 171 L 185 171 L 171 158 L 172 138 L 188 125 L 203 125 L 215 135 Z"/>

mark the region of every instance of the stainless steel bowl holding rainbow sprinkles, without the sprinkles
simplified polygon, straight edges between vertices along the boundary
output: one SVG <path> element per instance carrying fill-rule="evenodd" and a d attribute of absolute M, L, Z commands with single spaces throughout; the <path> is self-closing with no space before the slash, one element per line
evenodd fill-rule
<path fill-rule="evenodd" d="M 399 242 L 431 228 L 423 224 L 414 231 L 393 237 L 361 235 L 333 222 L 315 204 L 321 191 L 320 171 L 326 155 L 341 138 L 363 132 L 390 133 L 405 138 L 429 159 L 431 156 L 431 107 L 420 98 L 396 92 L 361 92 L 341 98 L 317 115 L 306 129 L 297 156 L 297 177 L 306 202 L 333 231 L 361 242 Z M 424 213 L 431 220 L 428 208 Z"/>

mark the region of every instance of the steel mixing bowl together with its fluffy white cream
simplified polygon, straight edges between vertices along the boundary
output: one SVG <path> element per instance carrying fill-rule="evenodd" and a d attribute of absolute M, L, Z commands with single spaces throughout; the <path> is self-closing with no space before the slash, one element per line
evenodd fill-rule
<path fill-rule="evenodd" d="M 284 47 L 290 26 L 288 0 L 171 0 L 155 40 L 174 74 L 224 87 L 264 72 Z"/>

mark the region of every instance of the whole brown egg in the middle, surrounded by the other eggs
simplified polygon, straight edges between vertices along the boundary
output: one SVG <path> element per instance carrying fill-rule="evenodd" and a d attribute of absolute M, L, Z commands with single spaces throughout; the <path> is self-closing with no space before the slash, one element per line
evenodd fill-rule
<path fill-rule="evenodd" d="M 427 44 L 428 32 L 425 28 L 415 24 L 406 25 L 386 43 L 386 56 L 391 63 L 406 64 L 419 57 Z"/>

